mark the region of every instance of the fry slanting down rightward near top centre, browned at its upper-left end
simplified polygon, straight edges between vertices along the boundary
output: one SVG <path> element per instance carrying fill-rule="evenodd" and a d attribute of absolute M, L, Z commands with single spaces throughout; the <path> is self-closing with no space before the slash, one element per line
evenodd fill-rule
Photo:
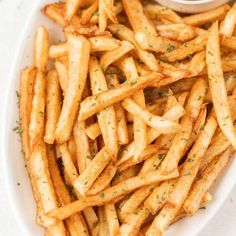
<path fill-rule="evenodd" d="M 135 40 L 134 32 L 131 29 L 122 24 L 110 24 L 108 29 L 119 38 L 132 43 L 140 60 L 143 61 L 151 70 L 158 71 L 159 65 L 155 56 L 151 52 L 145 51 L 139 47 Z"/>

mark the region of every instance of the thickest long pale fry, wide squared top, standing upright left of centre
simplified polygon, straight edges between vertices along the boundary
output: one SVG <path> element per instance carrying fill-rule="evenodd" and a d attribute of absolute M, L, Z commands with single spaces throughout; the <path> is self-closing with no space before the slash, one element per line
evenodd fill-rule
<path fill-rule="evenodd" d="M 57 143 L 68 141 L 78 110 L 78 103 L 86 83 L 90 53 L 89 41 L 83 36 L 68 36 L 69 80 L 63 100 L 62 111 L 56 128 Z M 78 68 L 80 68 L 78 70 Z"/>

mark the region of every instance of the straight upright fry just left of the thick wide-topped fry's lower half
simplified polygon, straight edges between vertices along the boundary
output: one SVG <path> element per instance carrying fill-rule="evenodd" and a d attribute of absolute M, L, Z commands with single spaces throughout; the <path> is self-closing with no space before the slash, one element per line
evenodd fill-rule
<path fill-rule="evenodd" d="M 61 111 L 61 91 L 58 75 L 55 70 L 48 72 L 46 87 L 46 124 L 44 142 L 53 144 L 55 140 L 56 125 Z"/>

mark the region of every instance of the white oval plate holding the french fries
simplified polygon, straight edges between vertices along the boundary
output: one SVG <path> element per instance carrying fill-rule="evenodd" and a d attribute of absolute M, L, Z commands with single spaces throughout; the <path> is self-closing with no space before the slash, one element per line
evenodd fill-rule
<path fill-rule="evenodd" d="M 15 217 L 21 226 L 23 235 L 39 236 L 43 235 L 43 230 L 35 224 L 36 208 L 28 180 L 28 175 L 24 167 L 21 154 L 19 137 L 12 131 L 18 120 L 16 90 L 19 84 L 20 68 L 31 65 L 33 53 L 33 39 L 35 30 L 40 25 L 45 25 L 50 35 L 61 36 L 60 30 L 53 23 L 47 20 L 41 13 L 43 5 L 55 0 L 37 0 L 27 20 L 27 26 L 23 31 L 21 43 L 15 55 L 12 71 L 9 76 L 10 85 L 7 88 L 7 99 L 4 110 L 2 124 L 2 145 L 4 155 L 5 179 L 8 189 L 8 196 Z M 212 218 L 225 198 L 230 193 L 236 182 L 236 161 L 233 160 L 222 177 L 215 184 L 213 191 L 214 200 L 209 204 L 207 210 L 199 211 L 194 217 L 186 218 L 170 227 L 166 236 L 194 236 Z M 20 186 L 17 185 L 20 183 Z"/>

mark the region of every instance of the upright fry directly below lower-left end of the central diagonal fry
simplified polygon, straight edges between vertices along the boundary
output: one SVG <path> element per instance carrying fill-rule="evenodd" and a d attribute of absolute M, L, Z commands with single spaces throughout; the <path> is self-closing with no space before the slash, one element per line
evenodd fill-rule
<path fill-rule="evenodd" d="M 80 174 L 82 174 L 86 170 L 93 159 L 90 151 L 89 139 L 85 133 L 85 130 L 85 122 L 76 120 L 73 128 L 73 134 L 76 144 L 77 165 Z"/>

